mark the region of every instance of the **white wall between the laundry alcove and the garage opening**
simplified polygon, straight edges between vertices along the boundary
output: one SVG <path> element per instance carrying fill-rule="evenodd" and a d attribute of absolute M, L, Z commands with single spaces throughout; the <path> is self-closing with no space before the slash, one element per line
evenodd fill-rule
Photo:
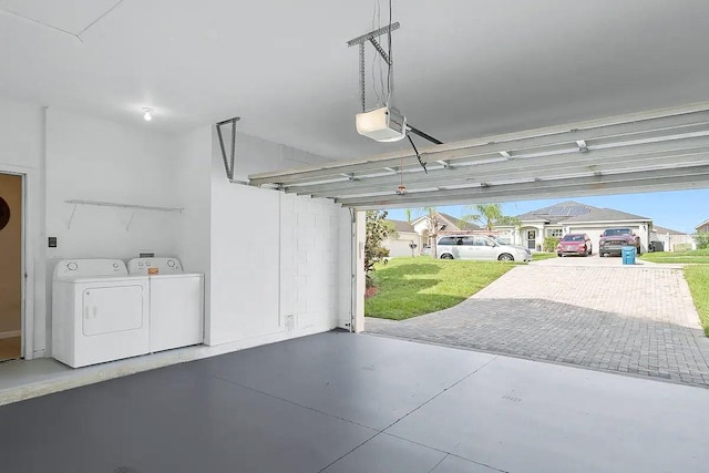
<path fill-rule="evenodd" d="M 337 327 L 341 299 L 350 297 L 348 278 L 338 277 L 343 260 L 349 264 L 350 244 L 342 236 L 349 210 L 326 199 L 229 183 L 216 133 L 212 161 L 206 342 L 246 347 Z M 323 161 L 239 134 L 234 177 Z"/>

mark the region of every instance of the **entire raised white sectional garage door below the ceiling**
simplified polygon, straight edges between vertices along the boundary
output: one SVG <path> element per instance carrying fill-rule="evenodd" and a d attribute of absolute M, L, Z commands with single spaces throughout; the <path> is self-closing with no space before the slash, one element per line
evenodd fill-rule
<path fill-rule="evenodd" d="M 707 187 L 709 104 L 442 144 L 421 158 L 425 171 L 404 152 L 256 174 L 249 184 L 359 209 Z"/>

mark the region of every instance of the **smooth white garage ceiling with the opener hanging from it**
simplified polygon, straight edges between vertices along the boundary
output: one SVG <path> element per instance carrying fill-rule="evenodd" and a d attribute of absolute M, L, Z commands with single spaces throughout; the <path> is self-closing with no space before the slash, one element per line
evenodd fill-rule
<path fill-rule="evenodd" d="M 393 2 L 397 105 L 444 142 L 709 99 L 706 0 Z M 166 132 L 240 115 L 338 158 L 405 146 L 354 132 L 346 41 L 372 0 L 124 0 L 72 35 L 116 3 L 0 0 L 0 95 L 135 123 L 152 106 Z"/>

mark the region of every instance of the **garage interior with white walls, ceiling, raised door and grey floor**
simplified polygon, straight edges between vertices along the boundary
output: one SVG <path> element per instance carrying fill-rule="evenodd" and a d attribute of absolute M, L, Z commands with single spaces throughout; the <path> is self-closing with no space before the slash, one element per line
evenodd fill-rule
<path fill-rule="evenodd" d="M 708 187 L 707 14 L 0 0 L 24 210 L 0 470 L 701 471 L 703 389 L 357 332 L 364 209 Z M 394 21 L 362 79 L 347 41 Z M 362 82 L 424 133 L 359 135 Z M 204 343 L 59 366 L 59 261 L 141 254 L 204 275 Z"/>

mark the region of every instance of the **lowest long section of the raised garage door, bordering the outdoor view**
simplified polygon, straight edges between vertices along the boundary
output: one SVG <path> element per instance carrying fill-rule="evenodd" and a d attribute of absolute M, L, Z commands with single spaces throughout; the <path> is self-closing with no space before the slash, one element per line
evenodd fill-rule
<path fill-rule="evenodd" d="M 409 207 L 415 204 L 441 204 L 461 202 L 506 202 L 511 199 L 540 198 L 542 195 L 572 196 L 590 191 L 602 194 L 617 194 L 625 189 L 641 192 L 643 188 L 693 188 L 709 186 L 709 164 L 677 169 L 656 169 L 620 173 L 603 176 L 583 176 L 536 182 L 502 184 L 490 187 L 467 187 L 456 189 L 428 191 L 397 195 L 371 195 L 363 197 L 336 198 L 347 207 Z M 586 195 L 586 194 L 582 194 Z"/>

